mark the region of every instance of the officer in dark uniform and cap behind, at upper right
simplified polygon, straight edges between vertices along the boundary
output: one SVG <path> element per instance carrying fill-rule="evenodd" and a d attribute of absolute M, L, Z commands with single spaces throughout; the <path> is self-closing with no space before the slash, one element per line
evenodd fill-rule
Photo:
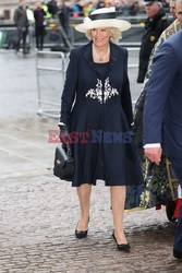
<path fill-rule="evenodd" d="M 157 43 L 160 34 L 169 25 L 161 2 L 159 0 L 145 0 L 144 4 L 147 20 L 139 50 L 137 83 L 144 82 L 151 50 Z"/>

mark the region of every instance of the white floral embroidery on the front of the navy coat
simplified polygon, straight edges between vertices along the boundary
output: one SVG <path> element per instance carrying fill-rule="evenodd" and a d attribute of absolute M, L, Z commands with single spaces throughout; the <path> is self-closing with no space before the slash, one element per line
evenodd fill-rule
<path fill-rule="evenodd" d="M 101 80 L 97 79 L 96 88 L 90 88 L 86 93 L 86 97 L 92 97 L 93 99 L 97 99 L 100 104 L 105 104 L 112 96 L 119 95 L 117 88 L 112 88 L 109 83 L 109 78 L 105 80 L 105 90 L 102 94 L 102 83 Z"/>

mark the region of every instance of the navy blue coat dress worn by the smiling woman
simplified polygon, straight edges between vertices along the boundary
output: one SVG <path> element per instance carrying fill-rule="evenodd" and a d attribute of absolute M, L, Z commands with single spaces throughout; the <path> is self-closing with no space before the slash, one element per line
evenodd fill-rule
<path fill-rule="evenodd" d="M 71 132 L 75 162 L 72 186 L 139 185 L 141 167 L 132 143 L 128 51 L 110 43 L 106 73 L 92 57 L 92 41 L 71 51 L 61 118 Z M 105 68 L 106 69 L 106 68 Z"/>

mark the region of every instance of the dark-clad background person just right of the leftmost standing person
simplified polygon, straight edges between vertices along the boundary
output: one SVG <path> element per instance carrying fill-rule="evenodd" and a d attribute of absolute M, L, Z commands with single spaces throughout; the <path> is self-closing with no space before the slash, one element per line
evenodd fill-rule
<path fill-rule="evenodd" d="M 44 9 L 41 9 L 41 2 L 35 3 L 34 17 L 35 17 L 35 38 L 36 48 L 43 50 L 44 37 L 45 37 L 45 24 L 44 16 L 46 15 Z"/>

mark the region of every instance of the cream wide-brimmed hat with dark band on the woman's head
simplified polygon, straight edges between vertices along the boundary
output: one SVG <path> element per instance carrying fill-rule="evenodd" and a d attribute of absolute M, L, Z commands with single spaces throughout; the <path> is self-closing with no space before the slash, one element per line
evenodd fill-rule
<path fill-rule="evenodd" d="M 88 29 L 98 27 L 116 27 L 120 32 L 124 32 L 131 27 L 131 23 L 125 20 L 118 20 L 116 7 L 110 7 L 93 11 L 88 17 L 84 19 L 84 23 L 75 26 L 75 29 L 86 33 Z"/>

